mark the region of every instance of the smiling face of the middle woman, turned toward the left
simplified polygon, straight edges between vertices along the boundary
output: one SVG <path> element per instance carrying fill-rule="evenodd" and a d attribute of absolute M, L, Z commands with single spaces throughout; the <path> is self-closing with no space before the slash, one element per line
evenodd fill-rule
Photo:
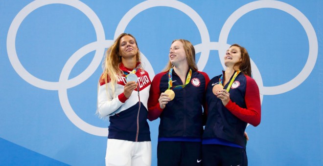
<path fill-rule="evenodd" d="M 186 53 L 184 49 L 184 45 L 180 41 L 175 41 L 172 43 L 169 49 L 169 61 L 177 66 L 179 64 L 185 63 L 187 64 Z"/>

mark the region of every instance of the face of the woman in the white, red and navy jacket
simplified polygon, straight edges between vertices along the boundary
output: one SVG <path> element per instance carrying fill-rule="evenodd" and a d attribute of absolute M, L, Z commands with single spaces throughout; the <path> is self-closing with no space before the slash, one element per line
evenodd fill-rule
<path fill-rule="evenodd" d="M 122 59 L 129 59 L 136 57 L 138 47 L 136 41 L 131 36 L 123 36 L 119 42 L 119 56 Z"/>

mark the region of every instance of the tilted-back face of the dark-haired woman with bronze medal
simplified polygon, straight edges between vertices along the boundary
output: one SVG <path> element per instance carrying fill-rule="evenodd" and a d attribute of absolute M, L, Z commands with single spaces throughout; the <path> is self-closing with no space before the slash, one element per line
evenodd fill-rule
<path fill-rule="evenodd" d="M 233 67 L 234 64 L 242 61 L 241 58 L 241 50 L 237 46 L 231 46 L 227 52 L 226 56 L 224 56 L 224 64 L 227 67 Z"/>

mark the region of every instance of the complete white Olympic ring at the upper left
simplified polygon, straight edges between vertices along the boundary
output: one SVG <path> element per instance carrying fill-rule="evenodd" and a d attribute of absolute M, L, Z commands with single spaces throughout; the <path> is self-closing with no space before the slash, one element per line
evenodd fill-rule
<path fill-rule="evenodd" d="M 36 87 L 47 89 L 47 90 L 58 90 L 62 88 L 70 88 L 84 82 L 96 70 L 97 66 L 102 60 L 103 52 L 105 49 L 103 47 L 97 49 L 98 51 L 96 51 L 93 61 L 90 63 L 89 67 L 87 68 L 89 69 L 89 71 L 86 72 L 85 70 L 77 77 L 64 82 L 47 82 L 36 78 L 35 76 L 31 75 L 28 71 L 26 71 L 23 65 L 20 63 L 16 52 L 16 35 L 18 32 L 18 28 L 20 24 L 23 22 L 23 20 L 32 11 L 36 10 L 39 7 L 45 6 L 47 4 L 53 4 L 53 3 L 67 4 L 69 6 L 73 6 L 79 9 L 91 20 L 96 32 L 97 41 L 98 42 L 105 41 L 104 29 L 99 18 L 96 16 L 96 14 L 92 11 L 92 9 L 89 6 L 87 6 L 86 4 L 84 4 L 79 0 L 35 0 L 29 3 L 28 5 L 26 5 L 17 14 L 17 16 L 14 18 L 14 20 L 12 21 L 9 27 L 8 35 L 7 35 L 8 57 L 9 57 L 9 61 L 11 62 L 11 65 L 14 67 L 14 69 L 19 74 L 19 76 L 23 78 L 23 80 L 25 80 L 27 83 L 30 83 Z"/>

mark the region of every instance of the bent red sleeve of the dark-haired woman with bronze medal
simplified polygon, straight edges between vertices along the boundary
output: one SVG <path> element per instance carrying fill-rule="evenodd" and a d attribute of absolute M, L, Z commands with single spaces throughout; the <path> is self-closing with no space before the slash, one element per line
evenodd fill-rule
<path fill-rule="evenodd" d="M 261 119 L 259 88 L 254 79 L 248 76 L 246 76 L 246 78 L 247 84 L 245 102 L 247 108 L 241 108 L 231 100 L 226 105 L 226 108 L 228 108 L 234 116 L 238 117 L 242 121 L 247 122 L 248 124 L 251 124 L 253 126 L 257 126 L 260 124 Z"/>

